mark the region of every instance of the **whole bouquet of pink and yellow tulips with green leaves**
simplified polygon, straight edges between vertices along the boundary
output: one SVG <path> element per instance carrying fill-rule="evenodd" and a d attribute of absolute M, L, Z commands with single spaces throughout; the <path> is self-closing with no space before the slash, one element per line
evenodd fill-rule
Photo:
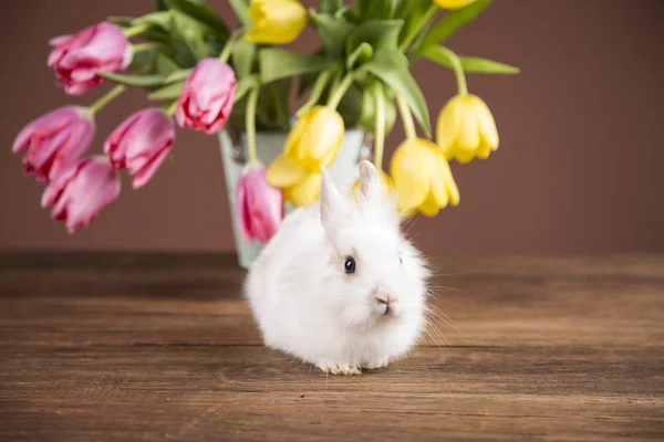
<path fill-rule="evenodd" d="M 516 73 L 504 63 L 457 55 L 443 45 L 491 0 L 320 0 L 305 10 L 297 0 L 229 0 L 240 28 L 231 31 L 198 0 L 156 0 L 138 18 L 111 17 L 75 34 L 51 40 L 48 65 L 72 96 L 114 84 L 95 103 L 69 105 L 28 124 L 13 151 L 23 168 L 48 182 L 43 207 L 69 232 L 86 227 L 121 192 L 126 170 L 137 189 L 151 180 L 174 147 L 175 125 L 216 134 L 247 134 L 248 161 L 237 188 L 237 215 L 245 236 L 267 242 L 283 203 L 318 198 L 320 167 L 335 159 L 346 127 L 374 134 L 374 164 L 393 188 L 400 209 L 435 215 L 456 206 L 459 191 L 448 161 L 487 158 L 498 148 L 494 117 L 468 93 L 466 73 Z M 299 54 L 279 45 L 307 25 L 320 48 Z M 429 59 L 456 74 L 458 94 L 437 118 L 435 141 L 426 101 L 409 66 Z M 308 97 L 294 112 L 293 78 Z M 90 156 L 97 114 L 126 88 L 146 91 L 155 103 L 127 117 Z M 397 114 L 406 139 L 383 171 L 383 146 Z M 415 122 L 424 137 L 417 136 Z M 256 133 L 289 131 L 282 154 L 264 166 Z"/>

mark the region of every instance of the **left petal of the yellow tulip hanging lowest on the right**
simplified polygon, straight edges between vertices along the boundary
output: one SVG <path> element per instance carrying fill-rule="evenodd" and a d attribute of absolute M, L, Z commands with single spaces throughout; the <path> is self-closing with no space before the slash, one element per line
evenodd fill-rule
<path fill-rule="evenodd" d="M 426 158 L 419 143 L 419 139 L 406 140 L 392 156 L 390 175 L 397 190 L 398 207 L 403 211 L 417 209 L 429 192 L 428 176 L 422 172 Z"/>

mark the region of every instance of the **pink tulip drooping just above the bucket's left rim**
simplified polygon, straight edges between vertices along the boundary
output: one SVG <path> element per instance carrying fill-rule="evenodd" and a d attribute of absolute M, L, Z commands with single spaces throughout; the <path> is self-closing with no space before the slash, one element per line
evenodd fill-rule
<path fill-rule="evenodd" d="M 175 112 L 177 124 L 206 134 L 221 130 L 232 110 L 235 72 L 221 60 L 203 59 L 187 77 Z"/>

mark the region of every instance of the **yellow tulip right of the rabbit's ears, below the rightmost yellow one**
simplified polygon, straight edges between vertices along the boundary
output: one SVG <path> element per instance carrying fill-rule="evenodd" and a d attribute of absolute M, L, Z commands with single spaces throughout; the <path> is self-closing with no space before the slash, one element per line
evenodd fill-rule
<path fill-rule="evenodd" d="M 392 156 L 390 172 L 397 190 L 398 208 L 406 214 L 421 211 L 435 217 L 448 204 L 459 203 L 459 189 L 449 164 L 428 139 L 403 141 Z"/>

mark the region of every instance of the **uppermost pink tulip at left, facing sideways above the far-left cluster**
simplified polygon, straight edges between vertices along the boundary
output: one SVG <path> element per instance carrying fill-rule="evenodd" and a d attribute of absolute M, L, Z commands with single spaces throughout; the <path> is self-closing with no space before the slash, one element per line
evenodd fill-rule
<path fill-rule="evenodd" d="M 48 64 L 70 95 L 81 95 L 102 83 L 97 71 L 123 71 L 133 57 L 132 45 L 122 29 L 105 21 L 74 35 L 56 36 L 50 43 L 53 50 Z"/>

